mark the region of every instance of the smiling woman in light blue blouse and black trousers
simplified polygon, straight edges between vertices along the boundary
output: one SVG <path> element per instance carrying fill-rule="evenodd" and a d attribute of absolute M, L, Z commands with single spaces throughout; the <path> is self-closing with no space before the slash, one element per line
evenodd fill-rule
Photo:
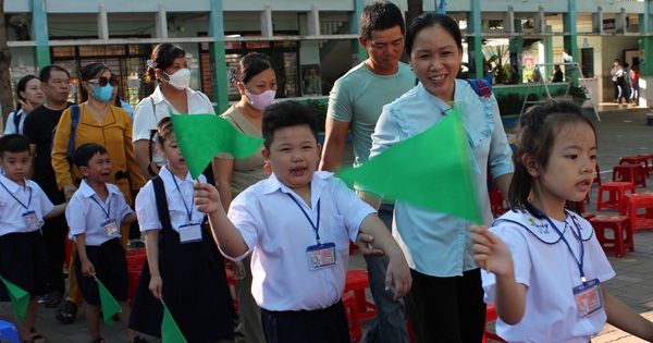
<path fill-rule="evenodd" d="M 457 110 L 466 123 L 469 155 L 475 157 L 477 201 L 483 222 L 490 223 L 488 167 L 503 194 L 508 192 L 514 170 L 496 99 L 479 97 L 469 83 L 455 78 L 463 41 L 451 16 L 424 13 L 416 17 L 406 35 L 406 52 L 420 83 L 383 108 L 372 135 L 370 158 L 436 125 L 452 109 Z M 481 342 L 485 304 L 469 224 L 464 219 L 396 203 L 393 234 L 411 268 L 407 307 L 416 342 Z"/>

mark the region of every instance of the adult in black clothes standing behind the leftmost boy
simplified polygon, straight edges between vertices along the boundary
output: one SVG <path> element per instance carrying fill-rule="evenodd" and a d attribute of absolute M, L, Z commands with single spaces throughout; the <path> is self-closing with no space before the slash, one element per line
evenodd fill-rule
<path fill-rule="evenodd" d="M 73 105 L 67 102 L 71 77 L 69 72 L 59 65 L 44 68 L 39 76 L 46 102 L 27 114 L 23 133 L 29 138 L 29 149 L 34 157 L 32 179 L 44 189 L 52 204 L 59 205 L 65 203 L 65 196 L 57 186 L 50 150 L 52 132 L 59 123 L 61 113 Z M 67 234 L 65 216 L 46 219 L 41 233 L 48 248 L 48 293 L 41 301 L 46 307 L 56 308 L 65 293 L 63 280 Z"/>

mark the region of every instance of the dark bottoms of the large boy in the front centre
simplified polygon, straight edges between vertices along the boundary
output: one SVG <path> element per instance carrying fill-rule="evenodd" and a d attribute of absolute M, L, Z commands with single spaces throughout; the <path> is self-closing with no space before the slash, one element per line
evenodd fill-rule
<path fill-rule="evenodd" d="M 261 308 L 268 343 L 349 343 L 343 301 L 324 309 L 272 311 Z"/>

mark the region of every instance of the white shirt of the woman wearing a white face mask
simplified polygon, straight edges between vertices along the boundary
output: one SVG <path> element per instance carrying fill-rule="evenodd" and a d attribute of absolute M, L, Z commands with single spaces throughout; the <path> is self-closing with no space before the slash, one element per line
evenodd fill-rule
<path fill-rule="evenodd" d="M 186 88 L 186 95 L 188 99 L 188 113 L 184 114 L 215 114 L 211 100 L 201 91 Z M 152 107 L 152 100 L 155 106 Z M 155 112 L 156 108 L 156 112 Z M 132 142 L 140 139 L 149 140 L 150 132 L 157 130 L 157 125 L 163 118 L 170 117 L 170 111 L 175 114 L 180 114 L 177 110 L 170 105 L 165 96 L 161 91 L 161 87 L 157 87 L 151 96 L 144 98 L 138 102 L 136 109 L 134 109 L 134 130 L 132 135 Z M 163 156 L 159 152 L 156 147 L 152 149 L 152 160 L 157 166 L 163 166 Z"/>

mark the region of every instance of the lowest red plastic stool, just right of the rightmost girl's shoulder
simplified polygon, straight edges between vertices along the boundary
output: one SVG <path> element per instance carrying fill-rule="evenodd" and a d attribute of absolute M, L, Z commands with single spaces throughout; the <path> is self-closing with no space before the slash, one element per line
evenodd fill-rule
<path fill-rule="evenodd" d="M 596 233 L 596 240 L 604 252 L 615 252 L 617 257 L 624 257 L 626 249 L 634 252 L 630 218 L 626 216 L 596 216 L 590 219 Z M 605 230 L 613 231 L 613 238 L 605 236 Z"/>

